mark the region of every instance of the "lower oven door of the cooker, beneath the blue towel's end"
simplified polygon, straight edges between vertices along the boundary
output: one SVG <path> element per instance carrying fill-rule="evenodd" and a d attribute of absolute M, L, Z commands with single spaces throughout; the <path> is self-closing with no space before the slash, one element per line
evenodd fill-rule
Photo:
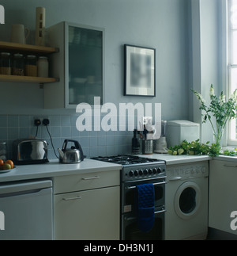
<path fill-rule="evenodd" d="M 158 208 L 154 216 L 154 225 L 149 232 L 142 232 L 137 227 L 137 217 L 130 213 L 122 215 L 122 240 L 163 240 L 164 208 Z"/>

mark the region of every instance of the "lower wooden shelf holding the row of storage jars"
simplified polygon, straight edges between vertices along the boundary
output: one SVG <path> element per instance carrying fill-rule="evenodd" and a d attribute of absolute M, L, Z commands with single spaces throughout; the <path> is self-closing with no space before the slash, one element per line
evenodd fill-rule
<path fill-rule="evenodd" d="M 21 76 L 21 75 L 0 75 L 0 81 L 47 83 L 47 82 L 58 82 L 58 78 L 40 78 L 40 77 L 34 77 L 34 76 Z"/>

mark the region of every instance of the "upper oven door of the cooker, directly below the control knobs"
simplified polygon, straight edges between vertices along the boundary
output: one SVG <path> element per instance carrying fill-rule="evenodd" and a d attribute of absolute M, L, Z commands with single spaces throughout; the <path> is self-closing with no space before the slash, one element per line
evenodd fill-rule
<path fill-rule="evenodd" d="M 154 180 L 141 180 L 141 181 L 126 181 L 122 182 L 121 191 L 121 213 L 131 213 L 133 216 L 137 215 L 137 186 L 141 184 L 152 183 L 154 185 L 155 193 L 155 208 L 164 206 L 164 189 L 165 178 L 156 178 Z"/>

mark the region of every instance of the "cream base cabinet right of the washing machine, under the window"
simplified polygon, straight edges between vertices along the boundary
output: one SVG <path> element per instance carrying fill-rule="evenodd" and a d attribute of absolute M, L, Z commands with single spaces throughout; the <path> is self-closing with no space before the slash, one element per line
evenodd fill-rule
<path fill-rule="evenodd" d="M 237 162 L 210 161 L 209 227 L 237 235 Z M 235 228 L 234 228 L 235 229 Z"/>

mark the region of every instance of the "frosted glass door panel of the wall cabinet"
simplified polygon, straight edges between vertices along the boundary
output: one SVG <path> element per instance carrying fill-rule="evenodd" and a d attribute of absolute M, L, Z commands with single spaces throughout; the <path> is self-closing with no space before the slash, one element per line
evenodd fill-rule
<path fill-rule="evenodd" d="M 69 104 L 94 104 L 103 97 L 102 31 L 68 27 Z"/>

